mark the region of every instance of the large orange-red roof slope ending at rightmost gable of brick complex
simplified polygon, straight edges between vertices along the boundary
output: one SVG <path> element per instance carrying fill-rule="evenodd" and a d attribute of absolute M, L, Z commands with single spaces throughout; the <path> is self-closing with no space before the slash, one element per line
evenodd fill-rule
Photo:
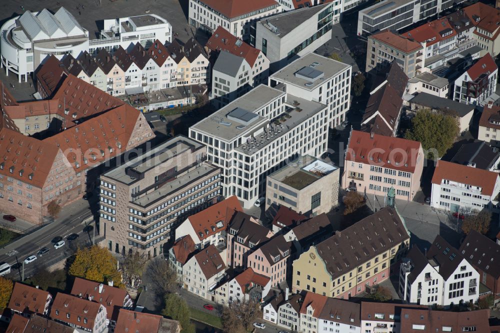
<path fill-rule="evenodd" d="M 80 172 L 125 151 L 138 117 L 143 115 L 136 108 L 120 105 L 42 142 L 60 147 L 75 172 Z"/>

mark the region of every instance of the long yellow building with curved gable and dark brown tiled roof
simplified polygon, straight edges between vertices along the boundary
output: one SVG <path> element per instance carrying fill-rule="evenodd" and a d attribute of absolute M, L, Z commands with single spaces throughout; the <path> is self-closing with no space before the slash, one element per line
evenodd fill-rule
<path fill-rule="evenodd" d="M 384 207 L 293 261 L 292 290 L 348 299 L 387 279 L 408 245 L 404 221 L 394 208 Z"/>

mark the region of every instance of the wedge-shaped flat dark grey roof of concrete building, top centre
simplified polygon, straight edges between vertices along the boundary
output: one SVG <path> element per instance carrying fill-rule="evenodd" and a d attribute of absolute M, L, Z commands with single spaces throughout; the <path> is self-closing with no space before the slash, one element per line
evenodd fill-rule
<path fill-rule="evenodd" d="M 262 18 L 257 24 L 261 24 L 266 29 L 279 35 L 279 37 L 283 37 L 292 30 L 300 28 L 299 24 L 325 9 L 328 5 L 331 5 L 331 3 L 285 11 L 277 15 Z"/>

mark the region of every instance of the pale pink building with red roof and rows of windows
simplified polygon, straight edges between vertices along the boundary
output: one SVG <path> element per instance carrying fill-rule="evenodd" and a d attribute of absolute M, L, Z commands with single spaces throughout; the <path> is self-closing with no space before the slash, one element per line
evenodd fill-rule
<path fill-rule="evenodd" d="M 353 130 L 342 188 L 383 196 L 394 187 L 396 198 L 412 200 L 420 188 L 423 160 L 420 142 Z"/>

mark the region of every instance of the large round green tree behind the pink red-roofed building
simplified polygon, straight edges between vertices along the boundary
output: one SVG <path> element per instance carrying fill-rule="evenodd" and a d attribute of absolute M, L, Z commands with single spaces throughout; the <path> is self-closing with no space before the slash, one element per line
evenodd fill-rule
<path fill-rule="evenodd" d="M 404 137 L 419 141 L 422 148 L 427 150 L 426 157 L 436 159 L 446 153 L 458 133 L 458 121 L 455 117 L 424 109 L 411 119 L 411 128 Z"/>

